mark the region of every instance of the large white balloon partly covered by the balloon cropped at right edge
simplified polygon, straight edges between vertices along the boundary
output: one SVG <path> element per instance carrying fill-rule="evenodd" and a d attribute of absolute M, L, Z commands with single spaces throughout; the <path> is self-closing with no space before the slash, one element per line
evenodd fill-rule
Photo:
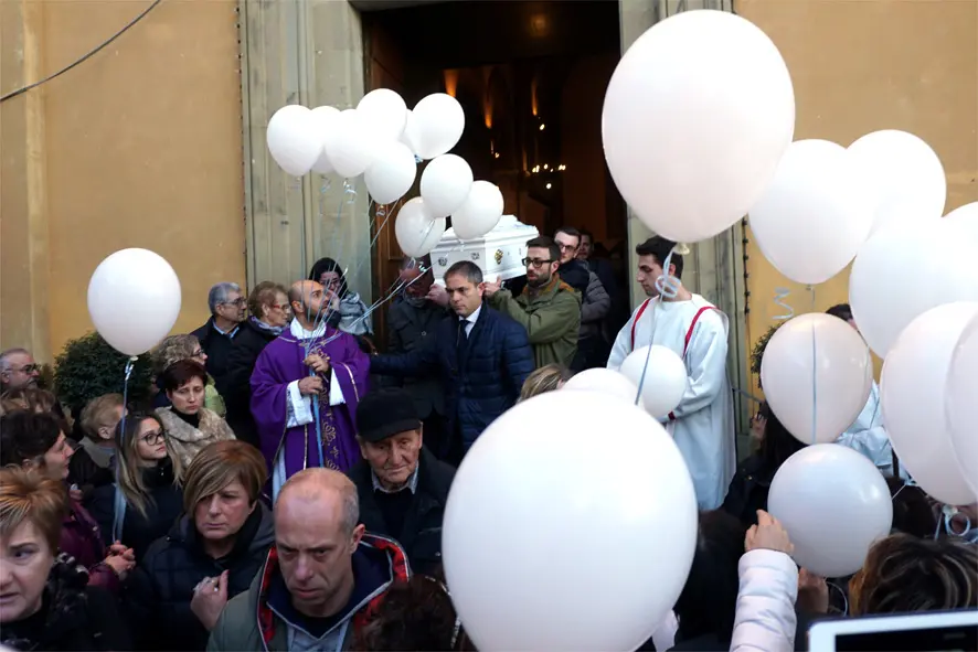
<path fill-rule="evenodd" d="M 978 302 L 971 301 L 945 303 L 921 314 L 890 349 L 880 378 L 883 424 L 900 463 L 924 491 L 953 505 L 978 498 L 956 460 L 946 416 L 955 346 L 976 317 Z M 971 368 L 971 375 L 976 371 Z M 978 394 L 970 400 L 978 402 Z"/>

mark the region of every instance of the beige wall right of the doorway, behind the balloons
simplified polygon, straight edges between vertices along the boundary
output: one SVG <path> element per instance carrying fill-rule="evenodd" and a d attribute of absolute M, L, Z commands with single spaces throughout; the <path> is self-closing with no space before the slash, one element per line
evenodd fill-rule
<path fill-rule="evenodd" d="M 879 129 L 911 131 L 944 163 L 945 213 L 978 200 L 978 1 L 738 0 L 736 9 L 788 64 L 796 140 L 848 146 Z M 777 287 L 791 290 L 796 312 L 848 302 L 848 271 L 816 286 L 812 303 L 756 245 L 747 254 L 752 344 L 784 312 L 774 303 Z"/>

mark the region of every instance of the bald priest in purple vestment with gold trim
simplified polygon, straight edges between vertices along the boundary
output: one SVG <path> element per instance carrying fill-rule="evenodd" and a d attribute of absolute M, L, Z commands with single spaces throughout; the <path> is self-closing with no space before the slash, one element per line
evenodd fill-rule
<path fill-rule="evenodd" d="M 251 380 L 252 416 L 273 495 L 302 469 L 347 472 L 357 463 L 357 405 L 370 373 L 370 359 L 353 335 L 329 325 L 339 308 L 334 293 L 302 280 L 288 299 L 295 319 L 258 355 Z"/>

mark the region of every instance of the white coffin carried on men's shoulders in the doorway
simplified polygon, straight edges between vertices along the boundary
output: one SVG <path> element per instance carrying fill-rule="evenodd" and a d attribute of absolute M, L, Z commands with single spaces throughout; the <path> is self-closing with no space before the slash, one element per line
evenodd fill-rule
<path fill-rule="evenodd" d="M 503 215 L 496 228 L 485 236 L 460 241 L 454 228 L 448 228 L 432 250 L 432 267 L 436 282 L 442 282 L 445 271 L 459 260 L 471 260 L 482 270 L 486 280 L 509 280 L 527 274 L 523 258 L 527 242 L 540 235 L 535 226 L 523 224 L 514 215 Z"/>

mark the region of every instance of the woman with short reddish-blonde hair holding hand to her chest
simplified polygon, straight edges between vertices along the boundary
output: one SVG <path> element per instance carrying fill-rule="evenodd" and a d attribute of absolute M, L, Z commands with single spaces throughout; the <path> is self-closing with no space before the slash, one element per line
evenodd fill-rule
<path fill-rule="evenodd" d="M 132 576 L 141 649 L 203 650 L 221 609 L 247 590 L 275 538 L 272 511 L 259 500 L 267 470 L 258 449 L 211 443 L 184 478 L 183 516 Z"/>

